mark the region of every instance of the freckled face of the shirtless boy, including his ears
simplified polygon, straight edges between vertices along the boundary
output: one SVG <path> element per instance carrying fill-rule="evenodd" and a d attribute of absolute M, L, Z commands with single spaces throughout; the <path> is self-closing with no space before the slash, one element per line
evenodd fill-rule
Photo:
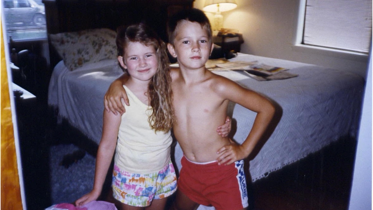
<path fill-rule="evenodd" d="M 181 21 L 176 28 L 174 45 L 167 47 L 173 57 L 178 58 L 180 68 L 199 69 L 209 59 L 213 43 L 207 30 L 200 23 Z"/>

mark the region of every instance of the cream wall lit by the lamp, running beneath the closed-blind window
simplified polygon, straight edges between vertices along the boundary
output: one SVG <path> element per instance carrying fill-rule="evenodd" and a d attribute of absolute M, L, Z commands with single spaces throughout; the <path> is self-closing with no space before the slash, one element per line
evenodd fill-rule
<path fill-rule="evenodd" d="M 195 0 L 194 7 L 203 8 L 205 0 Z M 223 28 L 238 29 L 244 43 L 241 52 L 311 63 L 357 73 L 366 78 L 367 55 L 295 47 L 298 12 L 305 0 L 236 0 L 237 8 L 223 12 Z M 207 14 L 207 16 L 212 16 Z M 212 22 L 212 19 L 210 19 Z M 300 26 L 302 28 L 302 25 Z M 301 30 L 300 30 L 301 31 Z M 298 40 L 297 40 L 298 38 Z"/>

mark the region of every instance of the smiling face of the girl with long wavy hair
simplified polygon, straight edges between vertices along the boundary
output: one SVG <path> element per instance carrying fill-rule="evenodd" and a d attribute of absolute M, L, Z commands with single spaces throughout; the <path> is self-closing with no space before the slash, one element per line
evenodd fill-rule
<path fill-rule="evenodd" d="M 140 81 L 149 81 L 158 69 L 156 50 L 140 42 L 128 43 L 124 56 L 118 56 L 118 61 L 132 78 Z"/>

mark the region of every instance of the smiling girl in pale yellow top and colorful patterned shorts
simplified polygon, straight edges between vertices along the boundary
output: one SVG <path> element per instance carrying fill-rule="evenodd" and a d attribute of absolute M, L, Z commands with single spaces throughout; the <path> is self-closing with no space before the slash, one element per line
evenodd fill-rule
<path fill-rule="evenodd" d="M 119 29 L 116 43 L 119 64 L 129 75 L 123 87 L 131 106 L 122 116 L 104 112 L 93 190 L 75 205 L 100 196 L 116 150 L 112 187 L 120 209 L 164 209 L 176 190 L 170 160 L 175 117 L 166 45 L 144 24 Z"/>

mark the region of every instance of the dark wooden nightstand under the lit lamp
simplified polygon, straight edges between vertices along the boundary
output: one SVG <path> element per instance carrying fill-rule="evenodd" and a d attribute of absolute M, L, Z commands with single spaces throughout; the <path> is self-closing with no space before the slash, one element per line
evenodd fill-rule
<path fill-rule="evenodd" d="M 238 33 L 219 33 L 213 36 L 213 42 L 222 47 L 224 57 L 227 57 L 229 51 L 233 50 L 236 53 L 241 51 L 241 44 L 244 43 L 242 34 Z"/>

